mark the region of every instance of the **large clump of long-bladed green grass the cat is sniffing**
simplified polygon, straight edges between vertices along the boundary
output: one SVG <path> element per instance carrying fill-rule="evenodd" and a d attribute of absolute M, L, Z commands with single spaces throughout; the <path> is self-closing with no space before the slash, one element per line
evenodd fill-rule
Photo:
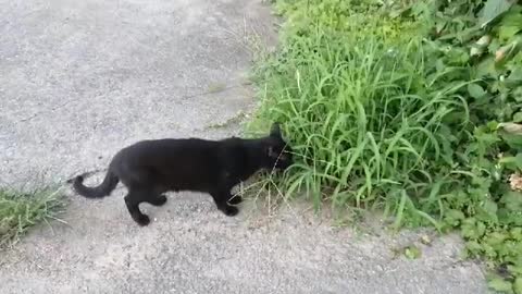
<path fill-rule="evenodd" d="M 444 160 L 450 124 L 469 135 L 469 107 L 458 94 L 467 83 L 432 90 L 444 76 L 422 78 L 428 68 L 419 39 L 389 49 L 378 35 L 340 37 L 318 27 L 288 44 L 282 54 L 291 58 L 269 64 L 258 115 L 285 122 L 298 156 L 288 195 L 304 187 L 318 205 L 377 205 L 398 216 L 397 225 L 405 213 L 434 222 L 415 205 L 434 205 L 435 183 L 451 182 L 437 176 L 447 167 L 431 163 Z"/>

